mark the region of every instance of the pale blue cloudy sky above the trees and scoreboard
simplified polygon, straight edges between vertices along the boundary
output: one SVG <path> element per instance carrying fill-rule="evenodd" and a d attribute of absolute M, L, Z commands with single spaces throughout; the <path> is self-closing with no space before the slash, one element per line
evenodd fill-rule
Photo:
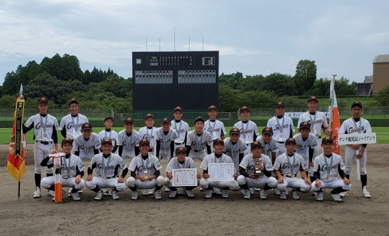
<path fill-rule="evenodd" d="M 131 52 L 220 51 L 220 73 L 294 75 L 315 60 L 317 77 L 363 82 L 389 53 L 389 1 L 99 1 L 0 3 L 0 84 L 21 64 L 65 53 L 81 69 L 131 77 Z"/>

